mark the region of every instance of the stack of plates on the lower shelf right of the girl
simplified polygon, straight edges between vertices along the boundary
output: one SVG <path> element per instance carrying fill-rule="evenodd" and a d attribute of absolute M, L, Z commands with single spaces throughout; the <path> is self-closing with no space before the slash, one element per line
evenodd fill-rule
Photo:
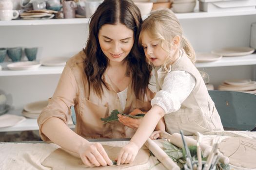
<path fill-rule="evenodd" d="M 256 94 L 256 82 L 250 79 L 225 80 L 218 89 Z"/>

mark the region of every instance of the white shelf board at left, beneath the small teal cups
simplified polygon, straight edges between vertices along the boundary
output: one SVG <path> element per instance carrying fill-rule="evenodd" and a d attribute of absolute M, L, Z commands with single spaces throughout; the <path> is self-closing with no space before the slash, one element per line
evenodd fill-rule
<path fill-rule="evenodd" d="M 40 66 L 36 69 L 31 70 L 9 70 L 6 65 L 10 62 L 0 63 L 3 70 L 0 70 L 0 76 L 21 76 L 21 75 L 42 75 L 42 74 L 60 74 L 62 73 L 63 66 L 58 67 L 47 67 Z"/>

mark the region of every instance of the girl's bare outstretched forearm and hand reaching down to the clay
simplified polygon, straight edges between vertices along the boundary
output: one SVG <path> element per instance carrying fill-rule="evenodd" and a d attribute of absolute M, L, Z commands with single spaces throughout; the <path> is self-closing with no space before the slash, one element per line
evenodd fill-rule
<path fill-rule="evenodd" d="M 134 161 L 138 150 L 142 147 L 148 137 L 152 134 L 158 121 L 164 116 L 164 110 L 154 105 L 142 119 L 138 130 L 132 137 L 129 144 L 124 146 L 118 156 L 117 164 L 131 163 Z"/>

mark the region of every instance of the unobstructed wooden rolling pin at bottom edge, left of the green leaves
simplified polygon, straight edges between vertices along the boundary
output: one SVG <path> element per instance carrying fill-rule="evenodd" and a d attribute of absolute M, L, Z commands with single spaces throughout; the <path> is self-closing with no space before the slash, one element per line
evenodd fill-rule
<path fill-rule="evenodd" d="M 167 170 L 180 170 L 177 164 L 153 140 L 148 138 L 145 146 L 158 158 Z"/>

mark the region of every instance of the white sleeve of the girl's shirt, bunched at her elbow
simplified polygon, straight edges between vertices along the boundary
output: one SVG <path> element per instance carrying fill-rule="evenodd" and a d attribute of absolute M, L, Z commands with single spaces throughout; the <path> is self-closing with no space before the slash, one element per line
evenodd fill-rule
<path fill-rule="evenodd" d="M 151 105 L 158 105 L 165 113 L 177 111 L 181 103 L 190 95 L 196 85 L 196 79 L 186 71 L 171 71 L 163 81 L 162 89 L 159 90 Z"/>

